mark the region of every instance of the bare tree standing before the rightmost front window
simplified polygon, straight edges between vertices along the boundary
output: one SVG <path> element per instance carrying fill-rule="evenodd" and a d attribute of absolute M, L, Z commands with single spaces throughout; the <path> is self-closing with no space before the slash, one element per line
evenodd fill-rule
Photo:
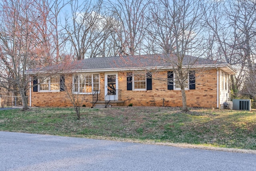
<path fill-rule="evenodd" d="M 148 29 L 151 52 L 162 52 L 163 65 L 171 67 L 174 82 L 182 94 L 182 110 L 188 111 L 185 87 L 190 69 L 200 54 L 201 1 L 160 0 L 151 7 L 152 20 Z"/>

